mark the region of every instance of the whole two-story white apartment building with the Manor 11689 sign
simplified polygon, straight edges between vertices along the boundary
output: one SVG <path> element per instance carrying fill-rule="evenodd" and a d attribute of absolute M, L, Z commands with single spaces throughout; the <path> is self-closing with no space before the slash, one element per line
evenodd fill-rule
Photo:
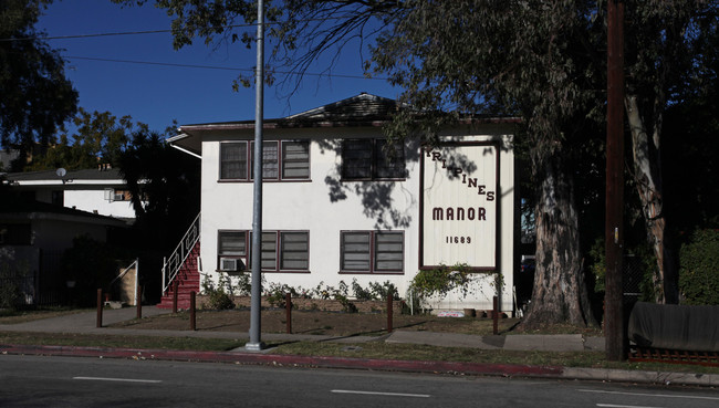
<path fill-rule="evenodd" d="M 395 101 L 361 94 L 265 119 L 262 269 L 267 284 L 392 282 L 402 296 L 418 270 L 467 263 L 487 272 L 467 299 L 436 308 L 512 311 L 519 266 L 514 118 L 472 119 L 386 148 Z M 201 156 L 201 268 L 218 281 L 250 265 L 254 123 L 185 125 L 169 142 Z M 393 156 L 393 157 L 389 157 Z M 497 285 L 494 278 L 502 279 Z M 198 290 L 198 289 L 194 289 Z"/>

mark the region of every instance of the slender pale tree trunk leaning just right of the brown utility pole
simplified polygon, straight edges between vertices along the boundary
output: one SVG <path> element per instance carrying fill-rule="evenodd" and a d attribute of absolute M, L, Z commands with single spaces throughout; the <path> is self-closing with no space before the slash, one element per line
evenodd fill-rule
<path fill-rule="evenodd" d="M 659 164 L 660 126 L 654 126 L 649 139 L 635 95 L 625 100 L 627 121 L 632 133 L 632 151 L 634 156 L 634 178 L 642 201 L 642 212 L 647 224 L 647 234 L 657 259 L 657 269 L 653 273 L 655 301 L 657 303 L 678 303 L 677 274 L 667 233 L 667 220 L 664 213 L 661 167 Z M 658 121 L 660 123 L 660 121 Z"/>

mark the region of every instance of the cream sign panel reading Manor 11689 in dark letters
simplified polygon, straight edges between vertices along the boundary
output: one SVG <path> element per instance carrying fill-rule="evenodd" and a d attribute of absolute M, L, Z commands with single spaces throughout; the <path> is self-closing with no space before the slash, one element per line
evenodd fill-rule
<path fill-rule="evenodd" d="M 451 144 L 423 150 L 420 268 L 497 268 L 499 148 Z"/>

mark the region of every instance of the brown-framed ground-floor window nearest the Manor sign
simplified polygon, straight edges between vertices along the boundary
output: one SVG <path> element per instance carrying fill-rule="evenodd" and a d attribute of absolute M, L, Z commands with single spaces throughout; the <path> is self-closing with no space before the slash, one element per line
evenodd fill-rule
<path fill-rule="evenodd" d="M 342 231 L 341 272 L 403 273 L 405 236 L 402 231 Z"/>

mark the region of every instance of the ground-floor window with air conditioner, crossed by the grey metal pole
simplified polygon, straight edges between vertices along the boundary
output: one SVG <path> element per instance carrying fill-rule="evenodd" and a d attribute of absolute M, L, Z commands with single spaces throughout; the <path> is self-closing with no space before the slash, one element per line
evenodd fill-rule
<path fill-rule="evenodd" d="M 251 231 L 219 231 L 218 270 L 249 270 L 251 243 Z M 310 233 L 263 231 L 260 252 L 262 272 L 306 272 L 310 270 Z"/>

